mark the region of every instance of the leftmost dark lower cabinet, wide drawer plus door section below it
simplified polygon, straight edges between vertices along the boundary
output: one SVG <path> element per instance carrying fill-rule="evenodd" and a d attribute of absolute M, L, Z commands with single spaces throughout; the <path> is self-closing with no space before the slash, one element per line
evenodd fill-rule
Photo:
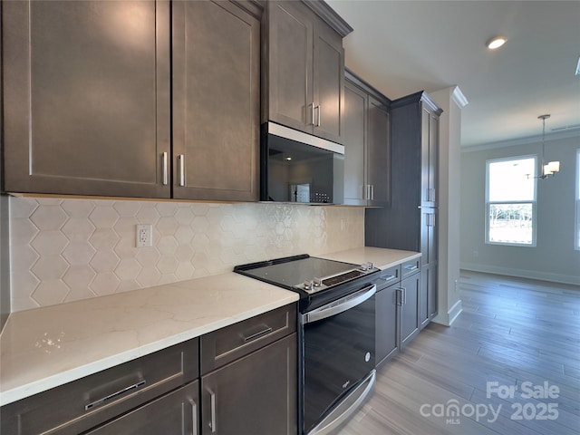
<path fill-rule="evenodd" d="M 0 408 L 0 433 L 198 433 L 189 425 L 197 419 L 198 376 L 194 338 L 9 403 Z M 169 430 L 152 430 L 166 425 Z"/>

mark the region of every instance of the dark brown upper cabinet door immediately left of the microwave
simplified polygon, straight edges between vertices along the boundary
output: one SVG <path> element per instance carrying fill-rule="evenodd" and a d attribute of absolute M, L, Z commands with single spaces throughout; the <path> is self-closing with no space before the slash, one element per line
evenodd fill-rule
<path fill-rule="evenodd" d="M 229 2 L 174 2 L 173 197 L 257 200 L 260 27 Z"/>

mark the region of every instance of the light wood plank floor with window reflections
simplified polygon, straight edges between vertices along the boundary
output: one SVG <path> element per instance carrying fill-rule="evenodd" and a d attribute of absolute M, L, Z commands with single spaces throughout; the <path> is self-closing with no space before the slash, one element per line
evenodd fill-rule
<path fill-rule="evenodd" d="M 463 313 L 449 328 L 431 323 L 387 362 L 340 435 L 580 434 L 580 288 L 471 272 L 459 284 Z M 487 382 L 517 391 L 488 398 Z M 557 398 L 522 397 L 544 382 Z M 436 416 L 452 403 L 458 424 Z M 494 420 L 489 406 L 499 405 Z M 478 409 L 488 415 L 469 416 Z"/>

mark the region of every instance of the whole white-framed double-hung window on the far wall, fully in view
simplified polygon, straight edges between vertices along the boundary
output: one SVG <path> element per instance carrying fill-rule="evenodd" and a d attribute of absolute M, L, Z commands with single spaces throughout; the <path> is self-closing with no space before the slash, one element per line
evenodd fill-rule
<path fill-rule="evenodd" d="M 536 246 L 536 157 L 487 162 L 486 243 Z"/>

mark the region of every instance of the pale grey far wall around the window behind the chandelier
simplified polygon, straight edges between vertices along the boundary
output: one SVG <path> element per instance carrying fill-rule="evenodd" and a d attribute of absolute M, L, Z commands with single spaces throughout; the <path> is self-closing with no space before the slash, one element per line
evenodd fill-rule
<path fill-rule="evenodd" d="M 489 150 L 463 150 L 462 268 L 580 285 L 580 251 L 574 249 L 575 155 L 580 134 L 570 136 L 546 138 L 546 160 L 560 160 L 561 166 L 555 177 L 537 180 L 536 247 L 485 243 L 486 160 L 530 154 L 539 157 L 541 138 L 493 144 Z"/>

